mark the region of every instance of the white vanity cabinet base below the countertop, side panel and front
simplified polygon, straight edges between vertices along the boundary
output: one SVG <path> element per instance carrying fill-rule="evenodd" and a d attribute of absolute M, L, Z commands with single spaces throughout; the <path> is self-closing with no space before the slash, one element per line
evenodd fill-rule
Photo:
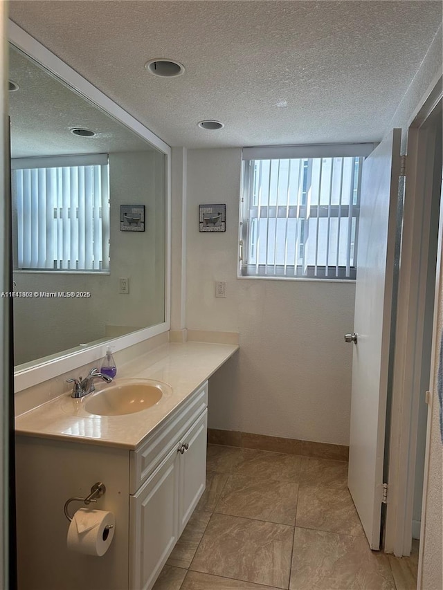
<path fill-rule="evenodd" d="M 18 434 L 19 590 L 150 590 L 204 492 L 207 405 L 204 382 L 136 450 Z M 67 550 L 63 512 L 96 481 L 116 517 L 102 557 Z"/>

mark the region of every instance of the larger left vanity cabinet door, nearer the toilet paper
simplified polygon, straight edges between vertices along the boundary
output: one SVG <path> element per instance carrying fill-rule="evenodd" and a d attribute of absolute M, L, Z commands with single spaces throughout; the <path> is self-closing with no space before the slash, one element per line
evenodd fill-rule
<path fill-rule="evenodd" d="M 129 588 L 150 590 L 179 537 L 177 447 L 134 496 L 129 496 Z"/>

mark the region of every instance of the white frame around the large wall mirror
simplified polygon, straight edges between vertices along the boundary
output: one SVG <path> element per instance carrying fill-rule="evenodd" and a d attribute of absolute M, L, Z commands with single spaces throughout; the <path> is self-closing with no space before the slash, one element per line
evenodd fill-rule
<path fill-rule="evenodd" d="M 134 131 L 165 155 L 165 321 L 119 338 L 111 338 L 81 351 L 65 355 L 62 353 L 58 358 L 47 362 L 36 362 L 33 367 L 15 371 L 15 391 L 17 392 L 98 360 L 105 354 L 105 348 L 109 344 L 112 345 L 114 351 L 120 351 L 170 329 L 171 147 L 11 19 L 8 19 L 8 40 L 35 62 L 68 84 L 73 91 Z"/>

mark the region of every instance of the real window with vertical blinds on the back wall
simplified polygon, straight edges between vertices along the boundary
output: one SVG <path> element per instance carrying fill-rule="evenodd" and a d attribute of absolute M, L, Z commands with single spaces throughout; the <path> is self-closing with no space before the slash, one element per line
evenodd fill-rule
<path fill-rule="evenodd" d="M 300 157 L 302 146 L 244 149 L 243 276 L 355 279 L 363 157 L 331 147 L 327 157 Z"/>

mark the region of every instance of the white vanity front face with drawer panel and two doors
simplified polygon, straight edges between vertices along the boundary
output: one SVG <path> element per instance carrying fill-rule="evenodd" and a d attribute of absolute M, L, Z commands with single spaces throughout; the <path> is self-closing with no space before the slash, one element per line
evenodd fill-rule
<path fill-rule="evenodd" d="M 206 382 L 132 457 L 134 479 L 143 463 L 159 464 L 129 498 L 129 546 L 135 548 L 129 553 L 131 590 L 152 588 L 204 492 L 207 395 Z"/>

